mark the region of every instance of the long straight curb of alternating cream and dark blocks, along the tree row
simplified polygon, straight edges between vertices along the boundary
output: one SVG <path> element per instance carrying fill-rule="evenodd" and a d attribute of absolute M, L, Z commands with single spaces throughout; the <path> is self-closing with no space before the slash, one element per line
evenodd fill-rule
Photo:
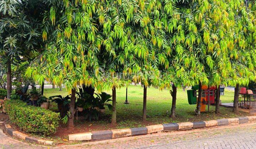
<path fill-rule="evenodd" d="M 221 125 L 234 125 L 234 124 L 242 124 L 242 123 L 248 123 L 248 122 L 254 122 L 254 121 L 256 121 L 256 116 L 223 118 L 218 120 L 199 121 L 199 122 L 165 123 L 160 125 L 151 125 L 151 126 L 139 127 L 139 128 L 126 128 L 126 129 L 115 129 L 115 130 L 107 130 L 107 131 L 95 131 L 91 133 L 69 134 L 69 140 L 70 141 L 83 140 L 82 138 L 86 138 L 86 140 L 99 141 L 99 140 L 116 139 L 116 138 L 135 136 L 135 135 L 141 135 L 141 134 L 157 133 L 161 131 L 177 131 L 182 129 L 204 128 L 204 127 L 221 126 Z"/>

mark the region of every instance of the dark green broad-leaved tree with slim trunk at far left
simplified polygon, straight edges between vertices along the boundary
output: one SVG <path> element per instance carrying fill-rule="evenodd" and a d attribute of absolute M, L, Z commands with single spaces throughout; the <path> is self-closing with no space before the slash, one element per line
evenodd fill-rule
<path fill-rule="evenodd" d="M 36 0 L 3 0 L 0 2 L 0 55 L 5 61 L 7 98 L 12 89 L 11 64 L 31 59 L 41 49 L 41 23 L 44 5 Z"/>

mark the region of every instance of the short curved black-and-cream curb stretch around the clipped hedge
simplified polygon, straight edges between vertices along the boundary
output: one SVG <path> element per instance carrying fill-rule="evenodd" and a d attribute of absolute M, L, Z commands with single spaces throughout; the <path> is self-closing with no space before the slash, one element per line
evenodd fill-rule
<path fill-rule="evenodd" d="M 4 122 L 0 122 L 0 125 L 4 127 L 4 130 L 9 134 L 11 137 L 15 137 L 18 139 L 26 140 L 28 142 L 35 142 L 35 143 L 42 143 L 45 145 L 53 145 L 53 141 L 44 140 L 44 139 L 38 139 L 31 136 L 28 136 L 24 133 L 21 133 L 19 131 L 16 131 L 13 129 L 10 125 L 5 124 Z"/>

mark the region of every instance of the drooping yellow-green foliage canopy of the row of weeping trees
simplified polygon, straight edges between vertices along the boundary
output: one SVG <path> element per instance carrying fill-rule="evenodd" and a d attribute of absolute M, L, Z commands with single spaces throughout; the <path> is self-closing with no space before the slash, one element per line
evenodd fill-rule
<path fill-rule="evenodd" d="M 47 1 L 47 50 L 27 75 L 69 89 L 142 82 L 160 89 L 255 81 L 255 2 Z"/>

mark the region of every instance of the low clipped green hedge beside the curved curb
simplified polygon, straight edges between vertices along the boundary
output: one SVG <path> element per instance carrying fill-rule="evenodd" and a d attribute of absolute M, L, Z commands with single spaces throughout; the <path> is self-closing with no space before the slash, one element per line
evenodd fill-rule
<path fill-rule="evenodd" d="M 26 132 L 49 135 L 55 133 L 59 126 L 59 113 L 28 106 L 21 100 L 7 100 L 5 108 L 11 122 Z"/>

